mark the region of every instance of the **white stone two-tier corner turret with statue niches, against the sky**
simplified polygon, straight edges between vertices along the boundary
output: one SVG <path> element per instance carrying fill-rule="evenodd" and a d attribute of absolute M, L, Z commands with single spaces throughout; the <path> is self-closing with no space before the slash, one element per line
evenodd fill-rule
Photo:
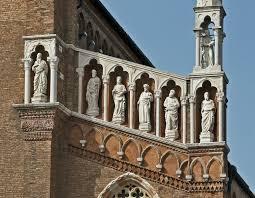
<path fill-rule="evenodd" d="M 197 0 L 194 12 L 196 64 L 190 75 L 190 142 L 226 142 L 228 79 L 222 55 L 226 12 L 222 0 Z M 209 101 L 213 113 L 207 117 L 203 109 Z M 207 119 L 211 119 L 211 125 Z"/>

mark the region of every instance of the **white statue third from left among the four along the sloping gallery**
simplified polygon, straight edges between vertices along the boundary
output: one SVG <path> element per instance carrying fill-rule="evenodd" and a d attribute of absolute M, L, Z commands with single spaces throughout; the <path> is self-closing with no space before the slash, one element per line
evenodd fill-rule
<path fill-rule="evenodd" d="M 153 95 L 149 92 L 150 86 L 148 84 L 143 85 L 144 91 L 141 93 L 137 102 L 139 111 L 139 130 L 150 132 L 151 131 L 151 102 L 153 101 Z"/>

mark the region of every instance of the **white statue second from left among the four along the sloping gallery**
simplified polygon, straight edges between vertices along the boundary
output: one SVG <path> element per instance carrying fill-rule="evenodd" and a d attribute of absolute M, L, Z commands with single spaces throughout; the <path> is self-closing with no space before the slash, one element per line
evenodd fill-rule
<path fill-rule="evenodd" d="M 115 124 L 123 124 L 125 122 L 125 110 L 126 110 L 126 87 L 122 84 L 122 78 L 117 77 L 117 84 L 112 90 L 112 96 L 114 100 L 114 112 L 112 116 L 112 122 Z"/>

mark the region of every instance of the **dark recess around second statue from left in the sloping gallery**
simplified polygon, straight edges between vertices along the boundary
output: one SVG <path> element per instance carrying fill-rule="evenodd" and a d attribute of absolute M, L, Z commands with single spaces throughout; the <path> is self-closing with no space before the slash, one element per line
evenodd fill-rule
<path fill-rule="evenodd" d="M 121 83 L 125 86 L 126 90 L 128 87 L 128 72 L 123 71 L 123 68 L 121 66 L 117 66 L 113 72 L 110 73 L 110 84 L 109 84 L 109 88 L 111 90 L 111 92 L 109 93 L 109 114 L 108 117 L 110 119 L 110 121 L 112 121 L 113 118 L 113 112 L 114 112 L 114 99 L 113 99 L 113 94 L 112 94 L 112 90 L 114 89 L 114 86 L 117 84 L 117 77 L 120 76 L 121 77 Z M 129 108 L 129 94 L 128 92 L 126 92 L 124 94 L 125 96 L 125 122 L 123 123 L 123 125 L 127 125 L 128 124 L 128 110 Z"/>

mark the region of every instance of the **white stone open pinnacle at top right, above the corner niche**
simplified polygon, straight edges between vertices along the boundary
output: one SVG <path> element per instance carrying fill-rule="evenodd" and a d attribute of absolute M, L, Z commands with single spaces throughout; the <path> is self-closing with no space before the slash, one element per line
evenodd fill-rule
<path fill-rule="evenodd" d="M 197 0 L 194 11 L 196 64 L 193 73 L 220 72 L 226 16 L 222 0 Z"/>

